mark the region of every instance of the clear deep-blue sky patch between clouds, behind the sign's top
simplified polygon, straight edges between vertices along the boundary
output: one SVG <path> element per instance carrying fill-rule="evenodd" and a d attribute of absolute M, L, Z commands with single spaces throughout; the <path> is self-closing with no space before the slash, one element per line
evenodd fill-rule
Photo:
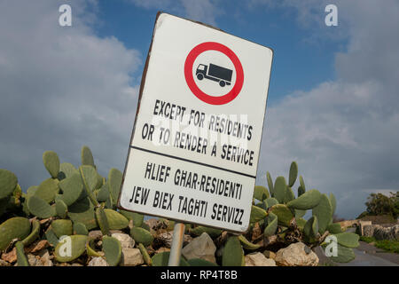
<path fill-rule="evenodd" d="M 177 1 L 176 1 L 177 2 Z M 297 21 L 297 12 L 293 8 L 278 9 L 253 6 L 245 1 L 219 1 L 215 4 L 217 15 L 215 22 L 207 22 L 234 36 L 239 36 L 254 43 L 271 47 L 275 58 L 270 81 L 269 103 L 284 98 L 293 91 L 309 91 L 317 83 L 334 79 L 334 53 L 345 46 L 344 38 L 332 39 L 333 29 L 344 27 L 322 27 L 325 34 L 315 28 L 305 28 Z M 324 7 L 320 4 L 318 19 L 324 23 Z M 128 48 L 137 49 L 143 56 L 142 70 L 146 52 L 151 43 L 153 24 L 158 11 L 169 12 L 187 17 L 180 9 L 163 5 L 151 8 L 140 7 L 126 0 L 100 1 L 98 18 L 95 26 L 98 36 L 115 36 Z M 202 20 L 202 19 L 199 19 Z M 138 71 L 139 72 L 139 71 Z"/>

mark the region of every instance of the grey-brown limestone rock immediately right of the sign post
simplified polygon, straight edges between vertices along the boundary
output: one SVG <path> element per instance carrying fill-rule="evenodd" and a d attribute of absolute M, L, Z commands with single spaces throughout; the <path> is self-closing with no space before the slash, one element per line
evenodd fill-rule
<path fill-rule="evenodd" d="M 215 263 L 216 246 L 207 233 L 201 233 L 200 237 L 193 239 L 186 245 L 182 254 L 186 259 L 201 258 Z"/>

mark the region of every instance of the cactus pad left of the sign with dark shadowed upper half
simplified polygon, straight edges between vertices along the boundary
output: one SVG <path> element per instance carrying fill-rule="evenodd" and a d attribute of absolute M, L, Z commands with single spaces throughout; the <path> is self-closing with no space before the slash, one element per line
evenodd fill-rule
<path fill-rule="evenodd" d="M 92 230 L 98 226 L 94 214 L 94 206 L 88 198 L 74 202 L 68 207 L 68 217 L 74 223 L 82 223 L 88 230 Z"/>

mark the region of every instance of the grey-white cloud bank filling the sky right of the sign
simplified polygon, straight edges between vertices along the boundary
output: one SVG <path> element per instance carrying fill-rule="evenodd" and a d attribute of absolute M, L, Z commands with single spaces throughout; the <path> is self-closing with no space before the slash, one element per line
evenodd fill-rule
<path fill-rule="evenodd" d="M 335 58 L 338 79 L 268 108 L 258 176 L 287 176 L 295 160 L 308 188 L 335 193 L 338 214 L 356 217 L 368 189 L 399 190 L 399 4 L 335 2 L 349 36 L 348 51 Z"/>

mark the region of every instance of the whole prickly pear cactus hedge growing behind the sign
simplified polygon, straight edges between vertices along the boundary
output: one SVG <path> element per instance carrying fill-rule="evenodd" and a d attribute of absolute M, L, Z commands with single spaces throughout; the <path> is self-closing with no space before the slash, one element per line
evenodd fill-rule
<path fill-rule="evenodd" d="M 103 264 L 116 266 L 125 265 L 121 260 L 124 249 L 138 248 L 135 251 L 142 256 L 137 258 L 141 259 L 138 264 L 167 265 L 168 237 L 175 222 L 158 219 L 153 225 L 141 214 L 118 209 L 121 171 L 111 169 L 102 177 L 88 146 L 82 147 L 81 157 L 82 165 L 75 168 L 61 163 L 55 152 L 44 152 L 43 165 L 51 177 L 26 191 L 11 171 L 0 169 L 0 255 L 15 249 L 17 258 L 10 264 L 27 266 L 25 249 L 45 244 L 54 265 L 91 265 L 94 257 L 101 257 Z M 359 245 L 359 238 L 332 223 L 337 208 L 332 193 L 307 191 L 303 177 L 298 178 L 296 162 L 288 176 L 273 181 L 267 172 L 266 179 L 267 186 L 254 187 L 246 233 L 186 224 L 189 241 L 206 234 L 216 252 L 215 258 L 207 260 L 182 256 L 180 265 L 245 265 L 250 253 L 267 255 L 267 251 L 276 252 L 298 241 L 309 248 L 328 249 L 329 241 L 336 240 L 338 255 L 332 256 L 332 261 L 354 259 L 353 248 Z"/>

